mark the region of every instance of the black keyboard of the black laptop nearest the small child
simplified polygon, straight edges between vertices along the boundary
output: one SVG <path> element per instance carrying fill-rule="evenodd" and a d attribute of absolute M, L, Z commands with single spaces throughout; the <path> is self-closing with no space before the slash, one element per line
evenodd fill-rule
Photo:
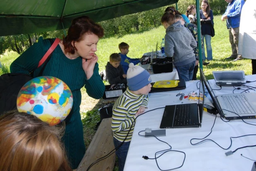
<path fill-rule="evenodd" d="M 174 115 L 174 126 L 186 126 L 192 124 L 192 105 L 181 104 L 176 105 Z"/>

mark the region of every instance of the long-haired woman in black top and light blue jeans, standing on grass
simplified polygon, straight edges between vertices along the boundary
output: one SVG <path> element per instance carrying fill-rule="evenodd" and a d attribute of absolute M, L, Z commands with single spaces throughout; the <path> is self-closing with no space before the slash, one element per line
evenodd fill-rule
<path fill-rule="evenodd" d="M 208 0 L 203 0 L 200 10 L 200 22 L 201 22 L 201 34 L 202 40 L 206 44 L 207 58 L 205 56 L 205 48 L 202 49 L 203 60 L 213 60 L 213 50 L 211 46 L 211 39 L 215 35 L 214 23 L 213 23 L 213 11 L 210 10 L 210 5 Z"/>

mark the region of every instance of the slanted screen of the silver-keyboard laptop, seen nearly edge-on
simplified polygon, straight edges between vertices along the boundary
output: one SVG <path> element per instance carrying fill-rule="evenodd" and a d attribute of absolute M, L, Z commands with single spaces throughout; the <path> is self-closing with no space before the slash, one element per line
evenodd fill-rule
<path fill-rule="evenodd" d="M 211 98 L 213 99 L 213 102 L 214 102 L 213 105 L 217 108 L 217 111 L 220 114 L 220 116 L 222 116 L 222 118 L 224 118 L 224 114 L 223 114 L 223 112 L 222 112 L 222 110 L 220 108 L 220 104 L 217 101 L 217 98 L 216 98 L 216 96 L 215 96 L 215 94 L 213 92 L 213 89 L 210 86 L 210 84 L 209 84 L 208 80 L 206 79 L 206 77 L 205 77 L 205 75 L 203 73 L 203 70 L 201 68 L 200 68 L 200 77 L 202 77 L 203 83 L 205 84 L 205 87 L 208 90 L 208 93 L 210 94 Z"/>

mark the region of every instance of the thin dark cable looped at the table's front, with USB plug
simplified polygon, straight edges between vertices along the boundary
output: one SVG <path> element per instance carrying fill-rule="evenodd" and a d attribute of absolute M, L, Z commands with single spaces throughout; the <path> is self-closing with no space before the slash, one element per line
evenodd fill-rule
<path fill-rule="evenodd" d="M 145 132 L 145 130 L 142 130 L 142 131 L 140 131 L 140 132 Z M 157 140 L 159 140 L 155 135 L 140 135 L 140 132 L 138 132 L 138 135 L 139 135 L 140 137 L 150 136 L 150 137 L 155 137 Z M 159 141 L 164 142 L 164 141 L 162 141 L 162 140 L 159 140 Z M 162 170 L 162 169 L 160 169 L 160 167 L 159 167 L 159 165 L 158 165 L 158 163 L 157 163 L 157 167 L 158 167 L 158 169 L 161 170 L 161 171 L 171 171 L 171 170 L 174 170 L 174 169 L 181 168 L 181 167 L 183 166 L 183 164 L 184 164 L 185 159 L 186 159 L 186 154 L 185 154 L 184 152 L 181 152 L 181 151 L 171 150 L 171 145 L 169 145 L 167 142 L 164 142 L 164 143 L 166 143 L 170 148 L 169 148 L 169 149 L 164 149 L 164 150 L 159 151 L 159 152 L 156 152 L 156 153 L 155 153 L 155 158 L 149 158 L 149 157 L 147 157 L 147 156 L 142 156 L 142 158 L 145 159 L 145 160 L 148 160 L 148 159 L 152 159 L 152 160 L 153 160 L 153 159 L 155 159 L 155 161 L 156 161 L 156 163 L 157 163 L 157 159 L 158 159 L 159 157 L 161 157 L 163 154 L 167 153 L 167 152 L 180 152 L 180 153 L 183 153 L 183 154 L 184 154 L 184 160 L 183 160 L 181 166 L 176 167 L 176 168 L 173 168 L 173 169 Z M 161 153 L 162 153 L 162 154 L 161 154 Z M 157 157 L 157 154 L 161 154 L 161 155 L 159 155 L 159 156 Z"/>

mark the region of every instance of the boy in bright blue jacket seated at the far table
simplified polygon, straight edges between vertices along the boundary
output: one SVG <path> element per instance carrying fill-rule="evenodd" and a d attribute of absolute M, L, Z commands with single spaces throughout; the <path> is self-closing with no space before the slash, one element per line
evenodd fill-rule
<path fill-rule="evenodd" d="M 134 65 L 137 65 L 140 63 L 142 58 L 129 58 L 127 56 L 129 52 L 129 45 L 125 42 L 122 42 L 118 45 L 118 48 L 121 53 L 118 53 L 121 56 L 121 65 L 123 67 L 123 72 L 124 74 L 127 74 L 127 70 L 129 69 L 129 64 L 133 63 Z"/>

